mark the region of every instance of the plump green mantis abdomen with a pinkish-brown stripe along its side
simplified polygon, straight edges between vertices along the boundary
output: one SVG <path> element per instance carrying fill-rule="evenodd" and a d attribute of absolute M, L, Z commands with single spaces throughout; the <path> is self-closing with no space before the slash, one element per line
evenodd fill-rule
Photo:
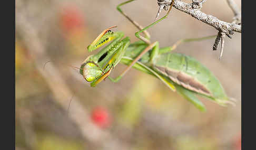
<path fill-rule="evenodd" d="M 186 89 L 214 100 L 228 100 L 220 81 L 192 57 L 165 53 L 155 58 L 153 69 Z"/>

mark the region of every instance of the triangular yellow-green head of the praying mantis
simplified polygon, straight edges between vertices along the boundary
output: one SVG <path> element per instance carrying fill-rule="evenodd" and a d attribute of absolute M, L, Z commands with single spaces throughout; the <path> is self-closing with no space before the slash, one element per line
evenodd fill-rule
<path fill-rule="evenodd" d="M 87 62 L 83 69 L 84 79 L 91 82 L 102 75 L 103 71 L 94 62 Z"/>

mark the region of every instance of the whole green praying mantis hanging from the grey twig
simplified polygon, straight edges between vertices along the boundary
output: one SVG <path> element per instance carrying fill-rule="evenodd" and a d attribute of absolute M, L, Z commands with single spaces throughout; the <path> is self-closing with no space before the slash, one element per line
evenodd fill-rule
<path fill-rule="evenodd" d="M 140 40 L 131 44 L 129 37 L 123 38 L 123 32 L 117 31 L 114 33 L 110 30 L 116 26 L 112 26 L 102 31 L 102 33 L 87 47 L 88 51 L 91 52 L 110 41 L 112 42 L 95 55 L 88 56 L 80 67 L 80 73 L 86 81 L 91 82 L 91 87 L 95 87 L 106 78 L 109 78 L 113 82 L 117 82 L 133 67 L 160 79 L 172 91 L 180 93 L 186 100 L 192 102 L 192 104 L 201 111 L 206 110 L 205 106 L 198 100 L 195 94 L 208 98 L 223 106 L 227 103 L 232 104 L 230 101 L 231 99 L 225 93 L 220 81 L 210 70 L 208 70 L 208 68 L 204 67 L 194 58 L 185 56 L 181 53 L 170 52 L 182 42 L 203 40 L 215 36 L 183 39 L 176 42 L 176 44 L 171 47 L 160 48 L 158 41 L 153 43 L 150 42 L 150 35 L 146 29 L 159 23 L 168 14 L 151 25 L 142 28 L 120 8 L 120 6 L 132 1 L 134 0 L 121 3 L 117 6 L 117 10 L 140 29 L 140 31 L 135 33 L 135 36 Z M 169 12 L 170 9 L 168 13 Z M 139 35 L 142 32 L 146 37 Z M 119 62 L 127 65 L 127 68 L 120 74 L 120 76 L 113 79 L 109 75 Z"/>

